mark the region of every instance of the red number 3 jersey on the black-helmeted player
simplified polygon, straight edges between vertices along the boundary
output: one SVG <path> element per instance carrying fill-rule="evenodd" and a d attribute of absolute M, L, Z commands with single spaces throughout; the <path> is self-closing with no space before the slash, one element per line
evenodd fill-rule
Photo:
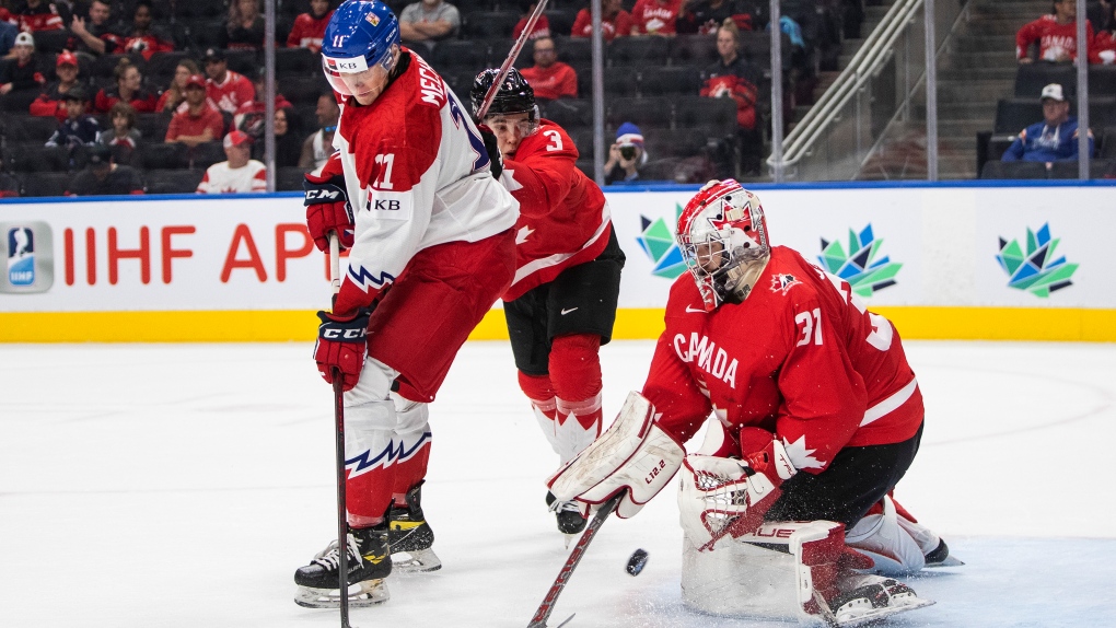
<path fill-rule="evenodd" d="M 500 181 L 519 201 L 513 301 L 608 245 L 612 221 L 605 194 L 577 168 L 577 147 L 562 127 L 543 119 L 503 164 Z"/>

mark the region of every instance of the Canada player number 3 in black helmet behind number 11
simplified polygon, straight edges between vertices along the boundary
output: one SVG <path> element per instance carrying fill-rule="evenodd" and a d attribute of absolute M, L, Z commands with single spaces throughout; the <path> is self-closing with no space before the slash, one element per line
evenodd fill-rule
<path fill-rule="evenodd" d="M 477 75 L 470 96 L 474 115 L 499 74 Z M 520 209 L 516 278 L 503 294 L 519 386 L 566 464 L 600 434 L 597 354 L 613 335 L 624 252 L 604 193 L 577 168 L 574 141 L 539 118 L 535 91 L 514 68 L 483 122 L 497 136 L 501 181 Z M 561 532 L 585 529 L 576 504 L 550 493 L 547 504 Z"/>

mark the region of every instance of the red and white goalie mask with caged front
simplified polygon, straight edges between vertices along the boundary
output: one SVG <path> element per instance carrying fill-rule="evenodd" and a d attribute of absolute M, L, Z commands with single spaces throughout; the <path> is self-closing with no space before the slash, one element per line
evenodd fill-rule
<path fill-rule="evenodd" d="M 706 311 L 743 302 L 771 259 L 763 206 L 731 178 L 709 182 L 690 200 L 676 235 Z"/>

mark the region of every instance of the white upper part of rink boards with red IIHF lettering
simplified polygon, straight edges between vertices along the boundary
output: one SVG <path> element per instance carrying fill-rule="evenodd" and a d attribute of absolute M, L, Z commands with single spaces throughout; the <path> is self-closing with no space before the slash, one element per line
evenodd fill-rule
<path fill-rule="evenodd" d="M 759 194 L 772 241 L 811 261 L 822 238 L 847 250 L 849 230 L 870 224 L 882 241 L 878 255 L 903 264 L 896 283 L 870 297 L 878 306 L 1116 308 L 1112 186 L 811 186 Z M 627 254 L 620 308 L 665 305 L 671 280 L 652 273 L 636 238 L 642 219 L 663 219 L 673 230 L 676 207 L 692 195 L 607 193 Z M 11 229 L 28 224 L 39 258 L 47 257 L 41 225 L 49 229 L 51 268 L 37 259 L 36 269 L 38 278 L 52 273 L 52 283 L 39 292 L 0 284 L 0 312 L 296 310 L 328 301 L 324 255 L 310 250 L 297 195 L 6 202 L 0 251 L 7 255 Z M 1026 247 L 1027 230 L 1043 224 L 1060 240 L 1055 257 L 1079 264 L 1072 284 L 1049 298 L 1008 287 L 995 259 L 1000 238 Z"/>

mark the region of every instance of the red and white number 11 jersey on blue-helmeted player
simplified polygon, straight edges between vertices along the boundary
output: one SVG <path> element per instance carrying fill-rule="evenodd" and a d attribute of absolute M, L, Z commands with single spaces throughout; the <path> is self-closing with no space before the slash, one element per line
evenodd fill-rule
<path fill-rule="evenodd" d="M 372 305 L 419 251 L 511 229 L 519 206 L 492 178 L 484 141 L 452 90 L 419 55 L 372 105 L 341 105 L 334 143 L 355 218 L 334 312 Z M 448 269 L 452 271 L 452 269 Z"/>

